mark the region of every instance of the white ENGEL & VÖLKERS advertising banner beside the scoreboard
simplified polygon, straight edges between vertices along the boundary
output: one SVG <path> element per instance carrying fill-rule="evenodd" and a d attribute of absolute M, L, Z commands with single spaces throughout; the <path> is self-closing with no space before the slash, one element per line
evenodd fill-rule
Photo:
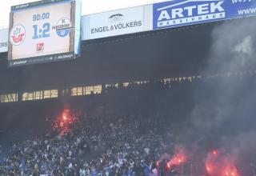
<path fill-rule="evenodd" d="M 144 31 L 144 7 L 91 14 L 83 18 L 83 40 Z"/>

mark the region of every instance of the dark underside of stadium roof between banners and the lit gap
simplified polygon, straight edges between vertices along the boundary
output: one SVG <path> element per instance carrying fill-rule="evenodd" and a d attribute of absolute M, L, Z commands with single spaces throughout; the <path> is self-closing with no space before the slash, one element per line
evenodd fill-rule
<path fill-rule="evenodd" d="M 80 58 L 63 62 L 8 68 L 7 54 L 0 54 L 1 91 L 198 74 L 220 23 L 85 41 Z"/>

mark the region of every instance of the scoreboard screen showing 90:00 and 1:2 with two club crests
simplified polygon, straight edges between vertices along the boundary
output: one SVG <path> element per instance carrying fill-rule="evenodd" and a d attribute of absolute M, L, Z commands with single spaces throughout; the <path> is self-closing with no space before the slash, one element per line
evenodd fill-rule
<path fill-rule="evenodd" d="M 45 0 L 12 6 L 9 66 L 76 58 L 80 17 L 79 0 Z"/>

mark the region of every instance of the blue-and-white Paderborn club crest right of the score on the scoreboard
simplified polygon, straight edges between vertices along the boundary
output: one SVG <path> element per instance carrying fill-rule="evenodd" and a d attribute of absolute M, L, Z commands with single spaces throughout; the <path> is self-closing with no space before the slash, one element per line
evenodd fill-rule
<path fill-rule="evenodd" d="M 71 31 L 71 22 L 68 18 L 61 18 L 58 20 L 57 25 L 52 27 L 56 30 L 59 37 L 65 38 Z"/>

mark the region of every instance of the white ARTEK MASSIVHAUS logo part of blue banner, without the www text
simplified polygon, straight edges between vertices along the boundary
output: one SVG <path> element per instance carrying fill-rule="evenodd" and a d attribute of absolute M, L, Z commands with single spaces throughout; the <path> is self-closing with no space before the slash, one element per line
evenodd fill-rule
<path fill-rule="evenodd" d="M 154 4 L 154 29 L 226 18 L 224 0 L 178 0 Z"/>

